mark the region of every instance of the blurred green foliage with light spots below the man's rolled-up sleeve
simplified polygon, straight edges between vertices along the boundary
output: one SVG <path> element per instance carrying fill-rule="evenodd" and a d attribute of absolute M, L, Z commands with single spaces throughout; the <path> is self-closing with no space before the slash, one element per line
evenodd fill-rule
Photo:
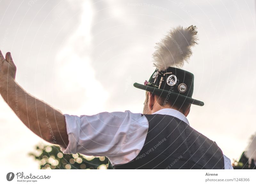
<path fill-rule="evenodd" d="M 107 169 L 107 157 L 84 156 L 81 154 L 63 154 L 59 146 L 36 146 L 34 156 L 40 164 L 40 169 Z"/>

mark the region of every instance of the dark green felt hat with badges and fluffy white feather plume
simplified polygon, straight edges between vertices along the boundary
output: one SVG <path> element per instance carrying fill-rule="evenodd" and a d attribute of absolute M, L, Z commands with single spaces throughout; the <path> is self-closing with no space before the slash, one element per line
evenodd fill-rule
<path fill-rule="evenodd" d="M 156 70 L 149 81 L 144 84 L 134 83 L 134 87 L 165 97 L 166 100 L 203 106 L 204 102 L 192 98 L 194 75 L 179 68 L 192 55 L 191 46 L 196 44 L 196 34 L 196 27 L 193 25 L 172 29 L 157 43 L 153 54 Z"/>

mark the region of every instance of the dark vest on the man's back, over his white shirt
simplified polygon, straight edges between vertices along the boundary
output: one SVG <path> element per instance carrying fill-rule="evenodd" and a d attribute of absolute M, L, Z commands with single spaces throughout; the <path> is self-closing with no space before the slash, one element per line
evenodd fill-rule
<path fill-rule="evenodd" d="M 149 127 L 139 155 L 114 169 L 224 169 L 221 149 L 184 121 L 145 114 Z"/>

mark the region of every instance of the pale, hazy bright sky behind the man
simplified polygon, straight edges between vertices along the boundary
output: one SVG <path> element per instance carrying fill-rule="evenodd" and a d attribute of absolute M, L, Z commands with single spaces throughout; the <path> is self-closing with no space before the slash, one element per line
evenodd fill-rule
<path fill-rule="evenodd" d="M 142 112 L 133 87 L 154 71 L 156 42 L 179 25 L 197 27 L 199 44 L 184 70 L 195 75 L 190 126 L 231 159 L 255 156 L 256 2 L 253 0 L 0 0 L 0 49 L 16 81 L 63 114 Z M 0 158 L 10 169 L 38 169 L 42 142 L 0 97 Z M 248 145 L 251 143 L 250 150 Z"/>

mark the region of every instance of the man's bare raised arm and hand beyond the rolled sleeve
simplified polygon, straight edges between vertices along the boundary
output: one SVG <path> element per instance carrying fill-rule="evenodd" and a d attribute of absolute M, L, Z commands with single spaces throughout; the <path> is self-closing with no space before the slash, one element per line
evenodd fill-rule
<path fill-rule="evenodd" d="M 47 142 L 68 146 L 65 116 L 22 89 L 15 74 L 11 53 L 4 58 L 0 50 L 0 94 L 4 101 L 36 135 Z"/>

